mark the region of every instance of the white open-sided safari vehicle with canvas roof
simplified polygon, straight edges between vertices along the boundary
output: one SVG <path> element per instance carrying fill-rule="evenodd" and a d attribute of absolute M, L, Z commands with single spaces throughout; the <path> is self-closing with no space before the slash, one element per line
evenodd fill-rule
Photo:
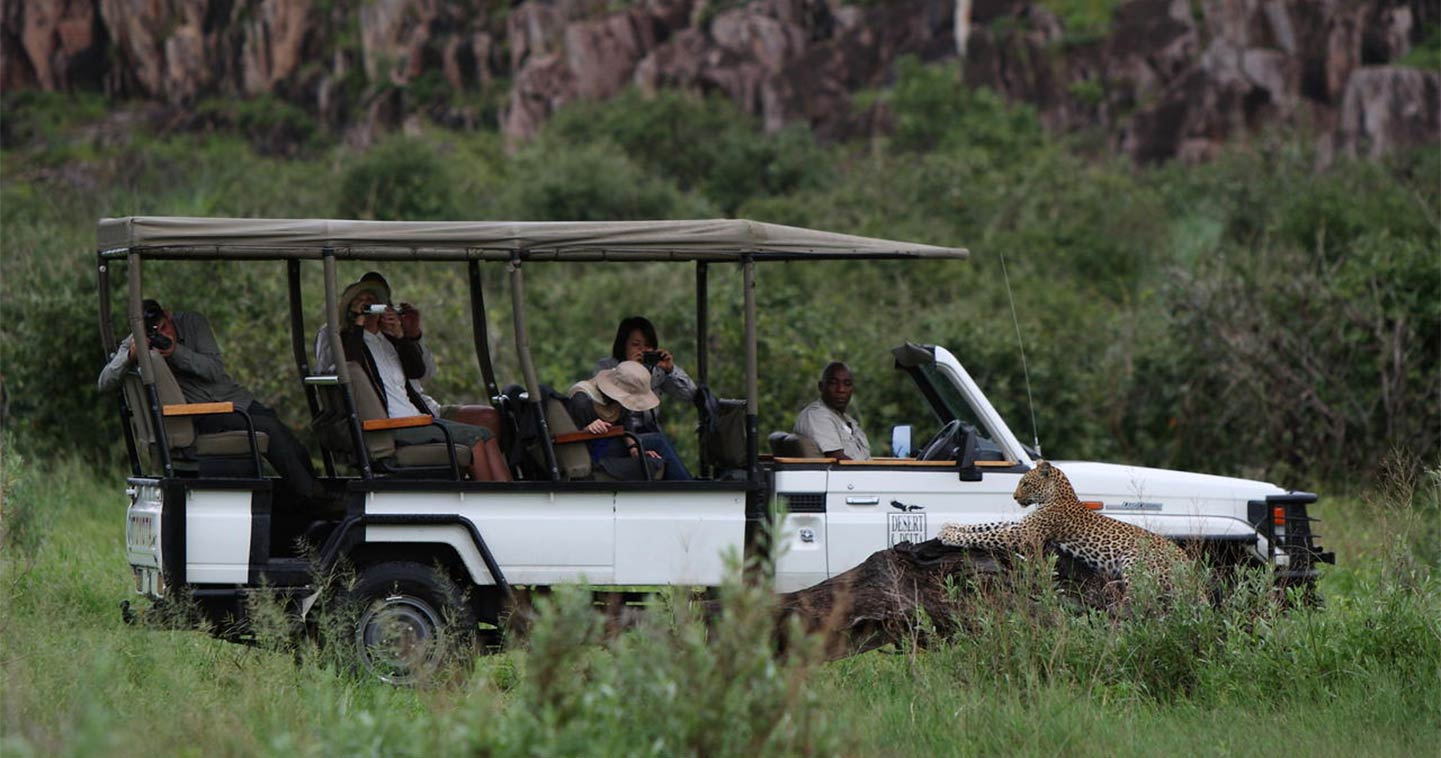
<path fill-rule="evenodd" d="M 806 440 L 757 429 L 758 264 L 824 259 L 931 259 L 967 252 L 749 220 L 663 222 L 357 222 L 297 219 L 104 219 L 98 229 L 99 327 L 117 346 L 111 275 L 124 264 L 128 326 L 146 344 L 141 264 L 245 261 L 288 278 L 294 380 L 305 391 L 336 507 L 311 513 L 281 501 L 261 468 L 264 435 L 196 434 L 197 414 L 239 414 L 226 403 L 186 403 L 166 360 L 140 353 L 118 398 L 131 476 L 125 549 L 135 588 L 153 601 L 184 599 L 225 636 L 246 634 L 246 597 L 282 598 L 314 614 L 316 576 L 353 568 L 354 640 L 386 679 L 409 676 L 409 650 L 447 625 L 496 624 L 526 595 L 584 584 L 611 598 L 646 585 L 719 585 L 728 552 L 774 549 L 775 589 L 793 591 L 904 540 L 931 539 L 945 522 L 1019 519 L 1010 494 L 1036 454 L 1023 445 L 945 347 L 892 350 L 934 414 L 938 432 L 914 457 L 824 458 Z M 337 261 L 427 265 L 470 285 L 476 356 L 500 418 L 516 480 L 468 481 L 460 445 L 396 447 L 396 419 L 370 418 L 369 385 L 353 366 L 314 375 L 304 316 L 337 323 Z M 744 281 L 745 401 L 699 393 L 700 478 L 607 481 L 591 471 L 568 416 L 548 406 L 536 380 L 525 310 L 525 271 L 563 262 L 676 262 L 696 275 L 696 380 L 708 380 L 708 277 Z M 171 265 L 171 264 L 167 264 Z M 193 264 L 192 264 L 193 265 Z M 324 303 L 301 298 L 303 267 L 323 267 Z M 899 265 L 899 264 L 898 264 Z M 523 388 L 503 389 L 491 365 L 484 268 L 509 277 L 514 350 Z M 197 308 L 203 310 L 203 308 Z M 339 343 L 333 353 L 343 355 Z M 732 357 L 733 360 L 733 357 Z M 768 378 L 810 382 L 810 378 Z M 419 422 L 428 422 L 421 416 Z M 1200 545 L 1221 561 L 1274 566 L 1278 581 L 1308 584 L 1317 562 L 1308 493 L 1242 478 L 1085 461 L 1058 461 L 1091 507 Z M 780 516 L 777 516 L 780 514 Z M 757 539 L 780 517 L 775 540 Z M 301 550 L 297 545 L 308 545 Z M 128 602 L 125 605 L 127 617 Z"/>

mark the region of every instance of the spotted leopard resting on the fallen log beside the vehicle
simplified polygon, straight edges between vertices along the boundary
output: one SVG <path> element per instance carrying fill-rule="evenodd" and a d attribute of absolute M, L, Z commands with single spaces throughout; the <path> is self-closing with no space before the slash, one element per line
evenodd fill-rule
<path fill-rule="evenodd" d="M 1189 562 L 1185 550 L 1166 538 L 1087 510 L 1071 480 L 1050 461 L 1038 460 L 1020 477 L 1013 497 L 1022 507 L 1038 507 L 1019 522 L 947 523 L 937 539 L 953 548 L 1022 553 L 1052 548 L 1123 588 L 1141 569 L 1169 591 L 1176 568 Z"/>

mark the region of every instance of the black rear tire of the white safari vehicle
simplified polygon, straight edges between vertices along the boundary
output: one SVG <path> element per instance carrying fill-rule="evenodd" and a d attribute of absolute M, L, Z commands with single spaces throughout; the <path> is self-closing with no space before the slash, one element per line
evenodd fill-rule
<path fill-rule="evenodd" d="M 425 682 L 474 647 L 474 608 L 437 566 L 414 561 L 366 566 L 346 599 L 356 669 L 382 682 Z"/>

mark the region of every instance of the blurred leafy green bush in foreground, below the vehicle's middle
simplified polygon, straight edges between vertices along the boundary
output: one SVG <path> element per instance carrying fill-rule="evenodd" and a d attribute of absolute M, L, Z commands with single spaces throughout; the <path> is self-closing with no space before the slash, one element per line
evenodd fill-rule
<path fill-rule="evenodd" d="M 588 592 L 540 608 L 493 745 L 512 755 L 831 754 L 840 735 L 808 685 L 818 640 L 775 651 L 775 599 L 729 585 L 713 624 L 673 592 L 607 641 Z"/>

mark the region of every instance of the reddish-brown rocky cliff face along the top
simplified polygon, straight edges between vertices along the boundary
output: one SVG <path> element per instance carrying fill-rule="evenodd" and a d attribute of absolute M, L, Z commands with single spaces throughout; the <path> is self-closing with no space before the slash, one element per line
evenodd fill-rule
<path fill-rule="evenodd" d="M 620 7 L 617 10 L 617 7 Z M 0 0 L 0 89 L 99 89 L 179 111 L 271 95 L 363 141 L 425 114 L 532 135 L 558 107 L 637 85 L 722 94 L 767 128 L 865 134 L 902 55 L 1102 127 L 1140 161 L 1205 160 L 1306 124 L 1323 151 L 1441 137 L 1441 73 L 1398 65 L 1431 0 L 1125 0 L 1084 27 L 1020 0 Z"/>

